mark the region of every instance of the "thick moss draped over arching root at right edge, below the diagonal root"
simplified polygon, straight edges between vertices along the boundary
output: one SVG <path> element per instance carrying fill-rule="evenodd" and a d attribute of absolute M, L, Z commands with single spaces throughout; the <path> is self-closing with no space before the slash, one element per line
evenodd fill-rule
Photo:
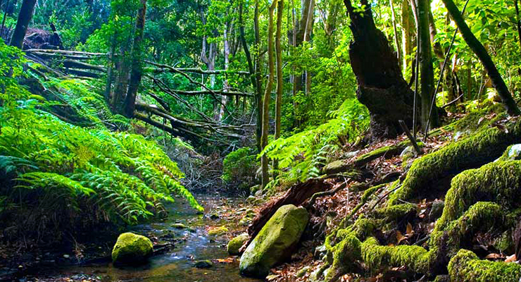
<path fill-rule="evenodd" d="M 475 202 L 489 200 L 507 209 L 521 196 L 521 161 L 496 161 L 454 177 L 445 199 L 444 212 L 437 222 L 442 230 Z"/>

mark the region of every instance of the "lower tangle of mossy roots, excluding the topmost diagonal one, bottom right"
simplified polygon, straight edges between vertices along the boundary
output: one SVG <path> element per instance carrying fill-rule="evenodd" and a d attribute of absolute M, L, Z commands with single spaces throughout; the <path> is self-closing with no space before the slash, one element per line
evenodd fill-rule
<path fill-rule="evenodd" d="M 323 271 L 325 281 L 336 281 L 346 273 L 374 273 L 392 266 L 407 266 L 431 277 L 448 271 L 451 281 L 520 281 L 520 265 L 481 260 L 463 250 L 472 247 L 479 232 L 511 230 L 518 219 L 520 197 L 521 161 L 496 161 L 464 171 L 453 178 L 444 212 L 430 235 L 429 250 L 418 245 L 379 245 L 376 238 L 370 237 L 382 226 L 415 210 L 413 204 L 388 205 L 326 238 L 327 262 L 322 266 L 327 268 Z M 360 265 L 365 268 L 360 269 Z"/>

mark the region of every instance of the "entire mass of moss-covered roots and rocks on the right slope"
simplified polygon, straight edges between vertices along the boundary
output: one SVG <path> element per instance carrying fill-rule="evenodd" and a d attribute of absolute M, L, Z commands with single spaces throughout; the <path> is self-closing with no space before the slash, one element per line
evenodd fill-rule
<path fill-rule="evenodd" d="M 396 189 L 387 204 L 327 236 L 326 262 L 314 278 L 332 282 L 343 274 L 368 275 L 406 266 L 431 280 L 439 276 L 454 282 L 520 281 L 519 264 L 491 262 L 465 250 L 472 248 L 477 236 L 480 244 L 513 250 L 511 233 L 521 215 L 521 161 L 498 157 L 521 140 L 521 128 L 519 123 L 507 128 L 483 130 L 415 161 L 401 189 Z M 478 168 L 467 169 L 475 166 Z M 382 234 L 398 230 L 406 215 L 421 221 L 414 201 L 422 199 L 422 190 L 429 183 L 451 173 L 456 176 L 427 245 L 389 245 L 385 240 L 389 236 Z M 387 191 L 398 185 L 390 185 Z"/>

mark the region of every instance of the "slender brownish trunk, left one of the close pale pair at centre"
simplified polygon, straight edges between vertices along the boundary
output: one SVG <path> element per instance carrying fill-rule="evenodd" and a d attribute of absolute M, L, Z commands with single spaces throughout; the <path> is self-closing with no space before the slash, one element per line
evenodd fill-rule
<path fill-rule="evenodd" d="M 275 74 L 275 62 L 273 61 L 273 11 L 275 10 L 275 4 L 277 0 L 274 0 L 268 11 L 268 82 L 266 83 L 266 89 L 264 91 L 263 99 L 263 135 L 261 138 L 261 145 L 264 149 L 268 145 L 268 134 L 270 127 L 270 98 L 271 90 L 273 87 L 273 75 Z M 269 182 L 270 176 L 268 175 L 268 156 L 263 154 L 261 157 L 262 167 L 262 188 L 265 188 Z"/>

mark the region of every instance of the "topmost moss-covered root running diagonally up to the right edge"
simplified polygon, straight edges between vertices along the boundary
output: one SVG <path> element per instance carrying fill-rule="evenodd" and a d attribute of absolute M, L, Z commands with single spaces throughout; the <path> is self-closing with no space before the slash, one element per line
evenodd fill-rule
<path fill-rule="evenodd" d="M 498 158 L 504 150 L 521 137 L 520 123 L 510 123 L 508 133 L 487 128 L 459 142 L 413 162 L 401 189 L 389 197 L 389 204 L 398 200 L 422 198 L 429 192 L 429 184 L 452 173 L 475 168 Z"/>

